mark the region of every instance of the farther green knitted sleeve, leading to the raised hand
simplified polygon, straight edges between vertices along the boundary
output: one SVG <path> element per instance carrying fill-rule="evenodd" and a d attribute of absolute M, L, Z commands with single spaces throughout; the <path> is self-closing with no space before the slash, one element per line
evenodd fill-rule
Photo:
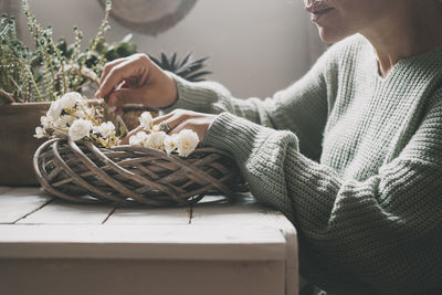
<path fill-rule="evenodd" d="M 299 137 L 301 151 L 311 158 L 320 155 L 322 135 L 327 119 L 327 89 L 324 74 L 330 54 L 325 54 L 299 81 L 273 97 L 239 99 L 215 82 L 191 83 L 171 75 L 177 84 L 178 101 L 164 110 L 192 109 L 208 114 L 229 112 L 262 126 L 288 129 Z"/>

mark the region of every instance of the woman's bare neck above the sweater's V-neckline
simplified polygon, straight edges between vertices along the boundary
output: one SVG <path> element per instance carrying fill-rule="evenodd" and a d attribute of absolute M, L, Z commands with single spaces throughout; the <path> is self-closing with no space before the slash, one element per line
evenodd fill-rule
<path fill-rule="evenodd" d="M 442 4 L 428 0 L 411 1 L 361 34 L 375 48 L 379 74 L 387 76 L 398 61 L 442 45 Z"/>

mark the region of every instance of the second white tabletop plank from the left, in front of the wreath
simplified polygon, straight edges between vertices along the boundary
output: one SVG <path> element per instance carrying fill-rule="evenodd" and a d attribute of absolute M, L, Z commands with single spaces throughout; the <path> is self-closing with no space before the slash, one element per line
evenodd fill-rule
<path fill-rule="evenodd" d="M 18 224 L 101 224 L 115 204 L 76 204 L 54 200 L 42 209 L 19 220 Z"/>

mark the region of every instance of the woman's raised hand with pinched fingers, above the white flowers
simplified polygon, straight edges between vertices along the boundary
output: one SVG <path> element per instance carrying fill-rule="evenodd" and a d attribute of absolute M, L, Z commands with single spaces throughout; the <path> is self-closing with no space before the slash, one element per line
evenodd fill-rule
<path fill-rule="evenodd" d="M 146 54 L 134 54 L 109 62 L 103 70 L 96 97 L 106 98 L 117 113 L 124 104 L 165 107 L 178 97 L 175 81 Z"/>

